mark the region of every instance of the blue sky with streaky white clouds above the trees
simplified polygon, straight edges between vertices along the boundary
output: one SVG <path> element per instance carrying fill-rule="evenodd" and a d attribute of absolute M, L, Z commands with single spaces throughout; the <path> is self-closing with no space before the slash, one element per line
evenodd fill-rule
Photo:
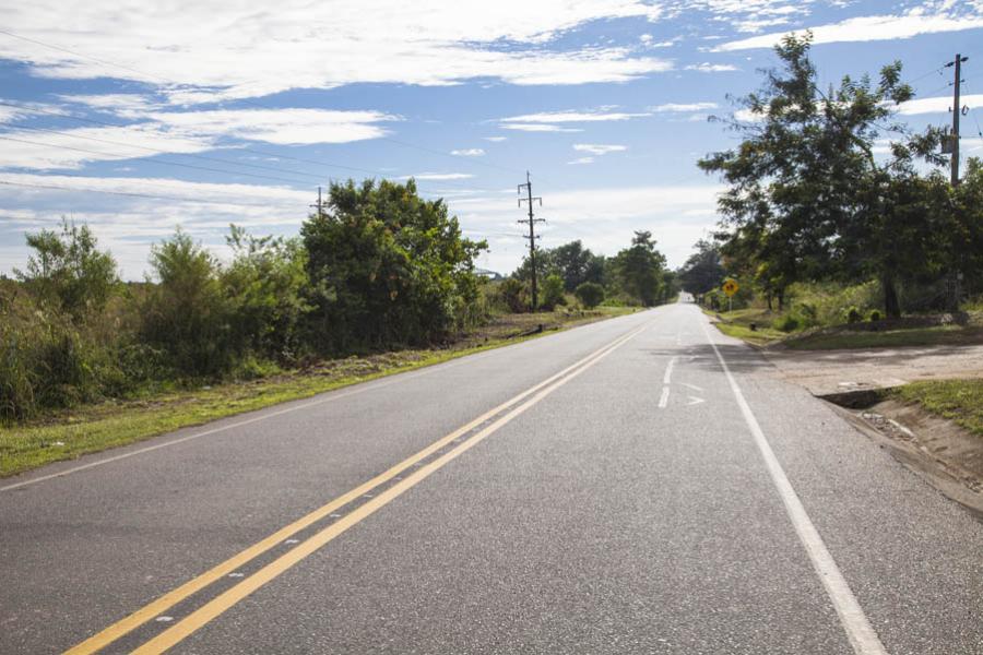
<path fill-rule="evenodd" d="M 296 234 L 319 183 L 408 176 L 509 272 L 525 170 L 541 246 L 649 229 L 678 265 L 716 221 L 695 162 L 735 142 L 707 117 L 803 28 L 824 83 L 900 59 L 919 129 L 950 121 L 940 67 L 969 56 L 962 148 L 983 154 L 983 0 L 0 1 L 2 273 L 61 216 L 139 279 L 178 225 L 222 257 L 229 223 Z"/>

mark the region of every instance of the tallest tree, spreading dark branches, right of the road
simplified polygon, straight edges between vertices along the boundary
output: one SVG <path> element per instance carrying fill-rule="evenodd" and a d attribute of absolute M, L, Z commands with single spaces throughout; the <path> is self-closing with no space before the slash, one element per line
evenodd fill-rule
<path fill-rule="evenodd" d="M 782 70 L 768 71 L 762 91 L 742 100 L 756 120 L 732 123 L 744 141 L 700 160 L 730 186 L 719 203 L 730 235 L 722 251 L 744 258 L 779 298 L 797 279 L 876 276 L 895 317 L 899 278 L 934 265 L 933 253 L 912 248 L 934 226 L 903 218 L 925 209 L 914 162 L 939 163 L 939 132 L 912 135 L 895 121 L 897 105 L 913 96 L 899 62 L 876 84 L 845 76 L 820 91 L 810 40 L 787 36 L 777 46 Z M 874 144 L 885 135 L 891 148 L 880 163 Z"/>

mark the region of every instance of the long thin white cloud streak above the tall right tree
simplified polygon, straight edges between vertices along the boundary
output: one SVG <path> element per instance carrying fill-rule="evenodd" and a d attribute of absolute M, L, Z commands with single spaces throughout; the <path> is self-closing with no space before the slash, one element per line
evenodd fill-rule
<path fill-rule="evenodd" d="M 978 10 L 979 11 L 979 10 Z M 983 27 L 983 15 L 926 14 L 919 9 L 901 15 L 856 16 L 839 23 L 810 27 L 815 44 L 841 41 L 890 40 L 911 38 L 920 34 L 960 32 Z M 801 32 L 800 32 L 801 34 Z M 754 36 L 718 46 L 718 51 L 771 48 L 784 36 L 782 33 Z"/>

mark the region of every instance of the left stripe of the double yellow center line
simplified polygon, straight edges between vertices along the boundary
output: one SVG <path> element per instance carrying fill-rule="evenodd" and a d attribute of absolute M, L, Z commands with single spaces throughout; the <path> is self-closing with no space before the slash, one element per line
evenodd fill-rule
<path fill-rule="evenodd" d="M 262 539 L 261 541 L 253 544 L 252 546 L 246 548 L 241 552 L 233 556 L 232 558 L 225 560 L 224 562 L 213 567 L 212 569 L 202 573 L 201 575 L 199 575 L 192 580 L 189 580 L 181 586 L 164 594 L 163 596 L 161 596 L 161 597 L 156 598 L 155 600 L 149 603 L 147 605 L 141 607 L 133 614 L 125 617 L 123 619 L 120 619 L 116 623 L 112 623 L 108 628 L 105 628 L 104 630 L 94 634 L 93 636 L 88 638 L 87 640 L 83 641 L 79 645 L 68 650 L 66 653 L 69 655 L 83 655 L 83 654 L 87 655 L 87 654 L 92 654 L 92 653 L 97 653 L 98 651 L 100 651 L 102 648 L 105 648 L 107 645 L 111 644 L 112 642 L 120 639 L 125 634 L 132 632 L 140 626 L 143 626 L 147 621 L 152 620 L 154 617 L 163 614 L 165 610 L 174 607 L 178 603 L 181 603 L 182 600 L 185 600 L 192 594 L 208 587 L 209 585 L 215 583 L 216 581 L 225 577 L 229 573 L 236 571 L 237 569 L 239 569 L 244 564 L 248 563 L 249 561 L 263 555 L 264 552 L 269 551 L 270 549 L 281 545 L 285 539 L 289 538 L 291 536 L 297 534 L 298 532 L 305 529 L 306 527 L 324 519 L 325 516 L 328 516 L 335 510 L 346 505 L 347 503 L 352 502 L 353 500 L 360 498 L 363 495 L 371 491 L 374 488 L 378 487 L 379 485 L 382 485 L 382 484 L 391 480 L 392 478 L 396 477 L 400 473 L 403 473 L 404 471 L 406 471 L 408 467 L 413 466 L 417 462 L 427 458 L 428 456 L 430 456 L 431 454 L 434 454 L 441 448 L 446 446 L 448 443 L 452 442 L 454 439 L 458 439 L 458 438 L 466 434 L 471 430 L 481 426 L 486 420 L 493 418 L 494 416 L 496 416 L 498 414 L 501 414 L 508 407 L 511 407 L 512 405 L 521 402 L 523 398 L 529 397 L 531 394 L 535 393 L 536 391 L 538 391 L 538 390 L 543 389 L 544 386 L 550 384 L 552 382 L 562 378 L 564 376 L 566 376 L 573 369 L 589 364 L 593 358 L 602 356 L 607 348 L 614 348 L 614 347 L 619 346 L 621 343 L 624 343 L 624 341 L 631 338 L 642 329 L 643 327 L 640 327 L 636 331 L 630 332 L 627 335 L 623 335 L 621 337 L 603 346 L 602 348 L 594 350 L 587 357 L 568 366 L 567 368 L 559 371 L 558 373 L 550 376 L 549 378 L 543 380 L 542 382 L 531 386 L 530 389 L 526 389 L 522 393 L 509 398 L 508 401 L 498 405 L 497 407 L 489 409 L 488 412 L 478 416 L 471 422 L 458 428 L 450 434 L 448 434 L 441 439 L 438 439 L 437 441 L 435 441 L 430 445 L 426 446 L 422 451 L 417 452 L 414 455 L 411 455 L 410 457 L 407 457 L 407 458 L 403 460 L 402 462 L 400 462 L 399 464 L 394 465 L 389 471 L 381 473 L 381 474 L 377 475 L 376 477 L 374 477 L 372 479 L 352 489 L 351 491 L 347 491 L 347 492 L 343 493 L 342 496 L 339 496 L 334 500 L 330 501 L 328 504 L 325 504 L 321 508 L 318 508 L 317 510 L 310 512 L 309 514 L 291 523 L 289 525 L 282 527 L 281 529 L 276 531 L 269 537 L 265 537 L 264 539 Z"/>

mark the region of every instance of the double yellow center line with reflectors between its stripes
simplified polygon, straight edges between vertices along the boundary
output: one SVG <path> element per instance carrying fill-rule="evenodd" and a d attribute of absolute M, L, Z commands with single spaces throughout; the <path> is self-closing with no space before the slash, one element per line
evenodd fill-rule
<path fill-rule="evenodd" d="M 602 348 L 599 348 L 597 350 L 591 353 L 583 359 L 580 359 L 579 361 L 565 368 L 558 373 L 547 378 L 546 380 L 543 380 L 542 382 L 531 386 L 530 389 L 526 389 L 522 393 L 509 398 L 501 405 L 489 409 L 469 424 L 458 428 L 450 434 L 438 439 L 416 454 L 407 457 L 406 460 L 403 460 L 389 471 L 377 475 L 372 479 L 359 485 L 351 491 L 339 496 L 325 505 L 318 508 L 306 516 L 303 516 L 301 519 L 298 519 L 289 525 L 276 531 L 267 538 L 258 541 L 249 548 L 246 548 L 238 555 L 235 555 L 234 557 L 225 560 L 221 564 L 217 564 L 216 567 L 212 568 L 205 573 L 202 573 L 198 577 L 194 577 L 186 582 L 181 586 L 164 594 L 163 596 L 143 606 L 128 617 L 117 621 L 116 623 L 109 626 L 97 634 L 80 643 L 79 645 L 70 648 L 69 651 L 67 651 L 67 653 L 71 655 L 97 653 L 102 648 L 119 640 L 121 636 L 128 634 L 129 632 L 132 632 L 140 626 L 143 626 L 147 621 L 162 615 L 164 611 L 174 607 L 178 603 L 181 603 L 192 594 L 196 594 L 197 592 L 204 590 L 218 580 L 226 577 L 229 573 L 235 572 L 244 564 L 260 557 L 272 548 L 281 546 L 284 540 L 288 539 L 291 536 L 323 520 L 324 517 L 329 516 L 342 507 L 353 502 L 354 500 L 364 497 L 366 493 L 372 491 L 372 489 L 376 489 L 377 487 L 389 483 L 393 478 L 399 477 L 400 474 L 403 474 L 408 468 L 438 453 L 445 446 L 448 446 L 455 440 L 459 440 L 462 437 L 473 432 L 471 437 L 459 443 L 453 449 L 447 451 L 431 462 L 419 466 L 411 475 L 407 475 L 396 484 L 388 487 L 381 493 L 374 496 L 370 500 L 358 505 L 331 525 L 315 533 L 312 536 L 295 546 L 288 552 L 273 560 L 252 575 L 245 577 L 235 586 L 217 595 L 215 598 L 208 602 L 164 632 L 157 634 L 155 638 L 151 639 L 133 652 L 140 654 L 150 654 L 163 653 L 167 651 L 168 648 L 173 647 L 175 644 L 179 643 L 181 640 L 186 639 L 188 635 L 200 629 L 202 626 L 229 609 L 233 605 L 235 605 L 256 590 L 260 588 L 298 562 L 303 561 L 305 558 L 334 539 L 336 536 L 339 536 L 350 527 L 370 516 L 381 508 L 389 504 L 393 499 L 398 498 L 408 489 L 415 487 L 421 481 L 429 477 L 433 473 L 442 468 L 445 465 L 447 465 L 449 462 L 451 462 L 462 453 L 477 445 L 489 434 L 494 433 L 499 428 L 511 421 L 513 418 L 553 393 L 555 390 L 559 389 L 560 386 L 585 371 L 588 368 L 592 367 L 594 364 L 609 355 L 616 348 L 620 347 L 621 345 L 637 336 L 648 325 L 642 325 L 628 332 L 627 334 L 616 338 Z M 496 419 L 495 417 L 498 418 Z M 493 422 L 482 428 L 484 424 L 487 424 L 493 419 L 495 419 Z"/>

